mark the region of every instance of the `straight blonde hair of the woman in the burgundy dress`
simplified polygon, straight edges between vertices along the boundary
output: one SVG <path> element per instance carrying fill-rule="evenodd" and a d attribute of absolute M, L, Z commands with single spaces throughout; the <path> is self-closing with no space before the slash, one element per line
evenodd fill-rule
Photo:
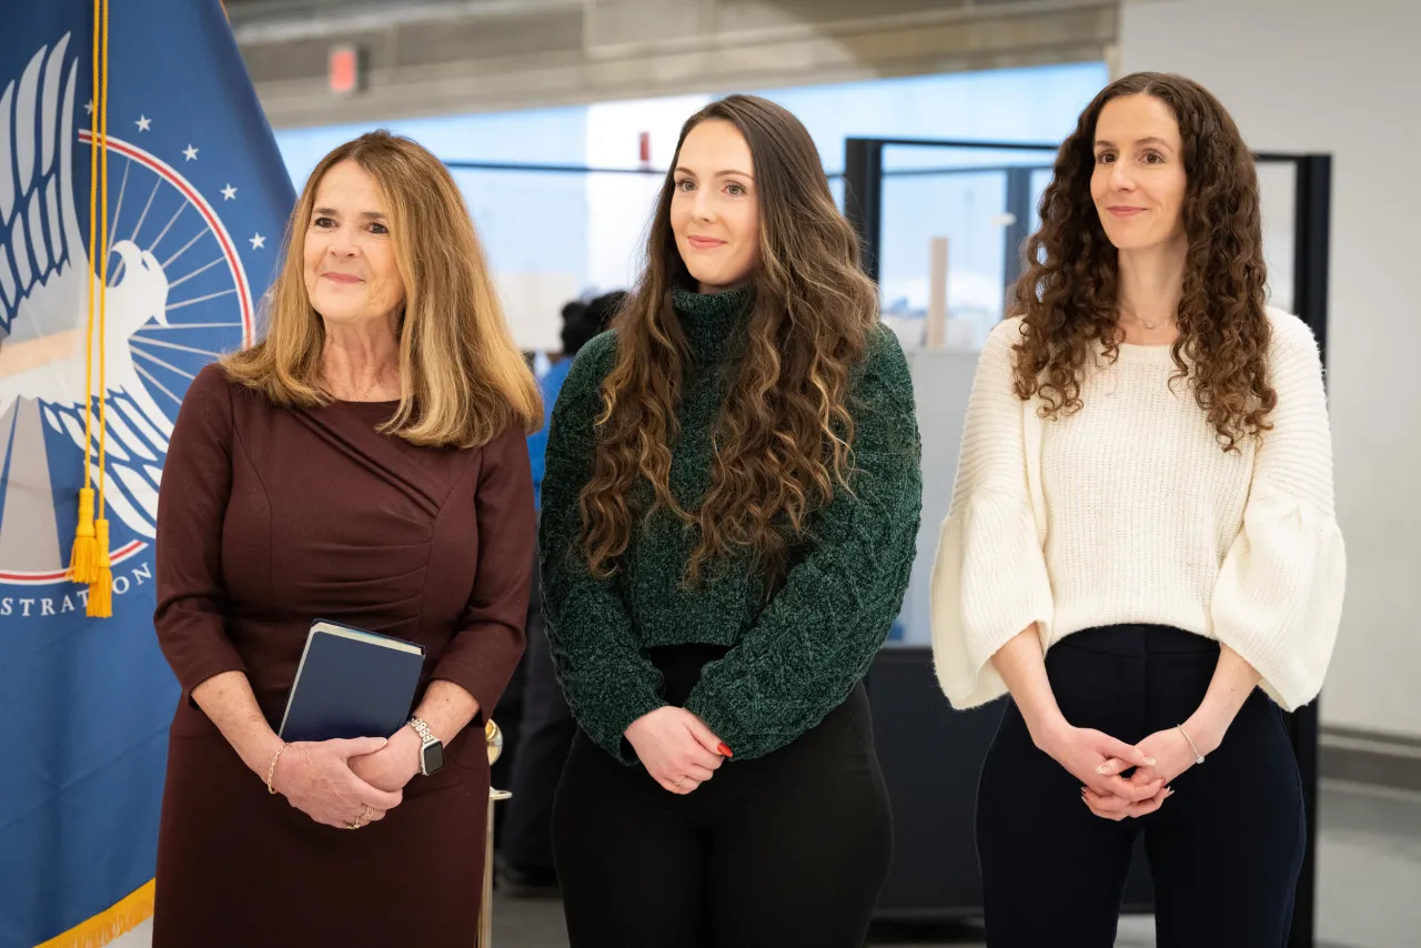
<path fill-rule="evenodd" d="M 385 199 L 405 283 L 399 409 L 382 428 L 415 445 L 475 448 L 509 425 L 537 431 L 543 399 L 513 344 L 489 264 L 449 169 L 419 144 L 368 132 L 321 159 L 287 223 L 281 271 L 264 304 L 267 331 L 222 360 L 227 374 L 287 406 L 333 399 L 321 385 L 325 327 L 306 293 L 304 244 L 321 179 L 355 162 Z"/>

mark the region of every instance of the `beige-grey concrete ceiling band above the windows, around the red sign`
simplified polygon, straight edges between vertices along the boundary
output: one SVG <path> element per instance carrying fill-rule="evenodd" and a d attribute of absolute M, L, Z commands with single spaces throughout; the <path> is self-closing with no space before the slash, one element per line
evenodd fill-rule
<path fill-rule="evenodd" d="M 1107 57 L 1118 0 L 226 0 L 273 125 Z M 327 87 L 355 45 L 362 90 Z"/>

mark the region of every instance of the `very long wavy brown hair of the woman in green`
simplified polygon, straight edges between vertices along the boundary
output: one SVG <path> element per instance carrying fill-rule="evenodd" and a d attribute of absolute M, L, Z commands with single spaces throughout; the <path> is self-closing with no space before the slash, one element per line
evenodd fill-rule
<path fill-rule="evenodd" d="M 773 586 L 810 513 L 848 489 L 850 381 L 878 318 L 878 293 L 860 270 L 858 239 L 800 121 L 767 99 L 732 95 L 686 119 L 676 159 L 691 129 L 713 119 L 749 144 L 760 247 L 746 286 L 739 368 L 712 433 L 712 485 L 693 510 L 668 485 L 691 368 L 672 289 L 696 286 L 671 227 L 672 161 L 641 279 L 615 320 L 617 361 L 601 387 L 593 476 L 580 500 L 584 553 L 598 576 L 617 570 L 635 522 L 665 510 L 699 534 L 686 584 L 710 563 L 749 557 Z M 641 480 L 651 486 L 649 503 L 638 500 L 648 493 L 635 490 Z"/>

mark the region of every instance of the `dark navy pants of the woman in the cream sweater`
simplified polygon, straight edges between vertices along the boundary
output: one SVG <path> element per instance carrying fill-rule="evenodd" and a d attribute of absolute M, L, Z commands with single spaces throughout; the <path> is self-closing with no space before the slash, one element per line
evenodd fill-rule
<path fill-rule="evenodd" d="M 1052 647 L 1046 671 L 1070 723 L 1137 743 L 1198 708 L 1218 657 L 1177 628 L 1110 625 Z M 1142 831 L 1160 948 L 1282 948 L 1306 833 L 1283 712 L 1255 691 L 1223 745 L 1171 786 L 1150 816 L 1094 816 L 1009 704 L 978 789 L 988 945 L 1110 948 Z"/>

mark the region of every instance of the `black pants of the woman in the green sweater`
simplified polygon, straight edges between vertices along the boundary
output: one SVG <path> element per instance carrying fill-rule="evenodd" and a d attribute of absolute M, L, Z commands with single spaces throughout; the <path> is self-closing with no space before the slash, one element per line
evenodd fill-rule
<path fill-rule="evenodd" d="M 649 650 L 674 705 L 722 654 Z M 891 849 L 863 685 L 789 746 L 728 760 L 684 796 L 578 732 L 553 810 L 573 948 L 863 945 Z"/>

